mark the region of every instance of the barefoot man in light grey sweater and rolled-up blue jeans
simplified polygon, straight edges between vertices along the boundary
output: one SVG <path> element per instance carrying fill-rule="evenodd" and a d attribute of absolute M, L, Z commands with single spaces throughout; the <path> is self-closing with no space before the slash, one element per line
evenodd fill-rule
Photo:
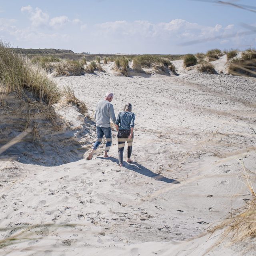
<path fill-rule="evenodd" d="M 94 143 L 92 150 L 89 153 L 88 160 L 92 159 L 94 150 L 98 148 L 98 146 L 102 142 L 102 138 L 104 135 L 107 140 L 104 157 L 109 157 L 108 151 L 112 144 L 110 118 L 113 123 L 116 121 L 114 107 L 110 103 L 113 100 L 113 97 L 114 97 L 114 94 L 112 92 L 107 92 L 105 99 L 100 100 L 97 104 L 97 108 L 95 112 L 97 140 Z"/>

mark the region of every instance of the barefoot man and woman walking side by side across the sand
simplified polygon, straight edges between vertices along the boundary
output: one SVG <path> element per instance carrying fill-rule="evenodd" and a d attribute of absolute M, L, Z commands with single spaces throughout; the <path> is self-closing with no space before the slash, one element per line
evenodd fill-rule
<path fill-rule="evenodd" d="M 112 134 L 110 128 L 110 118 L 116 126 L 117 141 L 118 141 L 118 159 L 119 166 L 123 166 L 123 154 L 125 142 L 128 144 L 127 150 L 127 162 L 132 162 L 130 159 L 132 154 L 132 142 L 133 142 L 133 130 L 134 130 L 134 120 L 135 114 L 132 113 L 132 104 L 127 103 L 124 106 L 124 111 L 118 113 L 116 118 L 114 107 L 110 103 L 114 98 L 112 92 L 107 92 L 104 100 L 100 100 L 97 104 L 96 113 L 95 113 L 95 122 L 96 122 L 96 131 L 97 131 L 97 140 L 94 143 L 92 150 L 89 153 L 88 160 L 92 159 L 94 151 L 98 148 L 102 142 L 102 138 L 105 135 L 106 137 L 106 148 L 104 157 L 108 156 L 108 151 L 112 144 Z"/>

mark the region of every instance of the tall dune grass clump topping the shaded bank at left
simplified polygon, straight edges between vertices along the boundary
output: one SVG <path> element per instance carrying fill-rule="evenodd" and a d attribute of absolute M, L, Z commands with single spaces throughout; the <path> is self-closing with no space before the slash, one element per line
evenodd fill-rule
<path fill-rule="evenodd" d="M 0 84 L 6 92 L 25 96 L 31 92 L 39 102 L 48 106 L 61 98 L 56 82 L 48 78 L 38 62 L 32 63 L 26 56 L 15 53 L 8 44 L 0 41 Z"/>

